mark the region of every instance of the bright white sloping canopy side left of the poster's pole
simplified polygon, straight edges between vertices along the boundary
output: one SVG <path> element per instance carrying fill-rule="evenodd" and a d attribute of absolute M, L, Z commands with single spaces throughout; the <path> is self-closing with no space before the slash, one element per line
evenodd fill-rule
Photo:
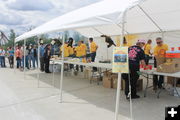
<path fill-rule="evenodd" d="M 84 36 L 117 35 L 122 13 L 142 0 L 104 0 L 57 17 L 18 38 L 16 42 L 28 37 L 64 30 L 76 30 Z M 113 23 L 113 24 L 112 24 Z M 111 29 L 114 29 L 113 31 Z"/>

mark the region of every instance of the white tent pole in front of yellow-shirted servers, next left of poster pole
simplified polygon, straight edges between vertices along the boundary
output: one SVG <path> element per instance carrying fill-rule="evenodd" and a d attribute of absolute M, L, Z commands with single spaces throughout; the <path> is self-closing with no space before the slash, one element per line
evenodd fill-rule
<path fill-rule="evenodd" d="M 63 90 L 63 72 L 64 72 L 64 42 L 65 42 L 65 35 L 63 36 L 63 42 L 62 42 L 62 65 L 61 65 L 61 81 L 60 81 L 60 103 L 62 103 L 63 96 L 62 96 L 62 90 Z"/>

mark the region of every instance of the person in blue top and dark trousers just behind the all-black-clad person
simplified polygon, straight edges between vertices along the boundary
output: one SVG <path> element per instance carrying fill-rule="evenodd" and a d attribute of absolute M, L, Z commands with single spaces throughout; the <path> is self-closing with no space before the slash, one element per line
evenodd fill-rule
<path fill-rule="evenodd" d="M 42 72 L 44 72 L 44 45 L 43 45 L 43 43 L 40 43 L 40 70 L 42 71 Z"/>

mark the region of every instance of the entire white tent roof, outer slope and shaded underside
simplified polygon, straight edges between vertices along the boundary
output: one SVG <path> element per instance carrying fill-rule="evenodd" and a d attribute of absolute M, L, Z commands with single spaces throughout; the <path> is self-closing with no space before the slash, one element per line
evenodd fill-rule
<path fill-rule="evenodd" d="M 180 30 L 180 0 L 104 0 L 57 17 L 18 38 L 16 42 L 50 32 L 75 30 L 86 37 L 120 35 L 127 11 L 129 34 Z"/>

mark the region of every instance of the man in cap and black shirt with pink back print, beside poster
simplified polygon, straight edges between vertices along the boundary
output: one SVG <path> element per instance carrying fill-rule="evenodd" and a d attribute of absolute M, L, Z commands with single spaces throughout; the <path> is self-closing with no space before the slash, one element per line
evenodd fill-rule
<path fill-rule="evenodd" d="M 137 95 L 136 91 L 136 84 L 139 79 L 138 71 L 140 69 L 140 63 L 145 64 L 145 53 L 142 49 L 145 45 L 145 40 L 138 40 L 136 45 L 129 47 L 129 72 L 130 77 L 128 74 L 123 74 L 122 77 L 125 80 L 125 95 L 126 98 L 129 99 L 129 78 L 131 83 L 131 98 L 137 99 L 140 98 L 139 95 Z"/>

